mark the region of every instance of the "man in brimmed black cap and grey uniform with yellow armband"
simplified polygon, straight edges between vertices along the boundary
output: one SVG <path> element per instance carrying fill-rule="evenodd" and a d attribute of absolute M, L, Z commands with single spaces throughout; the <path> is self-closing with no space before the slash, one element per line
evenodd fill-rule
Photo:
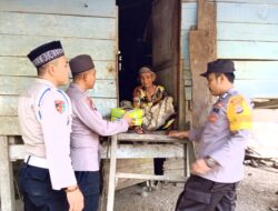
<path fill-rule="evenodd" d="M 177 211 L 214 211 L 236 208 L 236 189 L 244 178 L 244 158 L 251 109 L 234 89 L 234 62 L 216 60 L 202 73 L 208 80 L 212 105 L 205 125 L 190 131 L 171 131 L 170 137 L 198 142 L 197 160 L 177 202 Z"/>

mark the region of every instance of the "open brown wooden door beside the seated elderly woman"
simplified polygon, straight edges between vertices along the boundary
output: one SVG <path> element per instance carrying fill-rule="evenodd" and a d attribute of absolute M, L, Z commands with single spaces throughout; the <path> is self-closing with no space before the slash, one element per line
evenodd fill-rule
<path fill-rule="evenodd" d="M 152 2 L 152 66 L 157 82 L 162 84 L 178 104 L 180 1 Z"/>

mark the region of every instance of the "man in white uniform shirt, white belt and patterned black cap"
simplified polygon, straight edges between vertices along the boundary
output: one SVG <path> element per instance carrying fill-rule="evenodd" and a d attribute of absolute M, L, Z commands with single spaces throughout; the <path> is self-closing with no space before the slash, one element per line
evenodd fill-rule
<path fill-rule="evenodd" d="M 81 211 L 70 159 L 71 103 L 57 86 L 68 82 L 69 64 L 60 41 L 32 50 L 38 79 L 19 97 L 18 115 L 28 152 L 19 172 L 26 211 Z"/>

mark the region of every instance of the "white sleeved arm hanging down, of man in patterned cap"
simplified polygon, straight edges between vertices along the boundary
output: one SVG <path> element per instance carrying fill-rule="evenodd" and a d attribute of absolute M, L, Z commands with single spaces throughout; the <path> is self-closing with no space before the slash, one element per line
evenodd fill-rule
<path fill-rule="evenodd" d="M 57 108 L 57 103 L 63 108 Z M 68 114 L 64 113 L 67 109 L 66 100 L 59 99 L 53 91 L 44 94 L 40 109 L 41 129 L 54 190 L 77 184 L 69 155 L 70 128 L 67 125 Z"/>

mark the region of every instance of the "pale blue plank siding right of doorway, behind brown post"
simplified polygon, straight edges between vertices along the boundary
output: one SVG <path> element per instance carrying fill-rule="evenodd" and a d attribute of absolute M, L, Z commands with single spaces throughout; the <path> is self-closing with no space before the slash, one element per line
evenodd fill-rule
<path fill-rule="evenodd" d="M 188 100 L 188 32 L 196 24 L 197 2 L 182 1 L 181 49 Z M 278 0 L 218 0 L 217 57 L 235 61 L 235 86 L 246 96 L 278 98 Z"/>

